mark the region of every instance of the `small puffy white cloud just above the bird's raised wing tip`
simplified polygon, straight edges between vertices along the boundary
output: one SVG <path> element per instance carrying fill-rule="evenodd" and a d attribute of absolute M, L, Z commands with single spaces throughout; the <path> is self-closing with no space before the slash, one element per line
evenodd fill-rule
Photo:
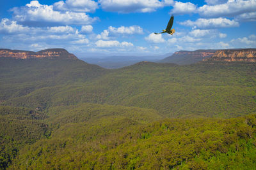
<path fill-rule="evenodd" d="M 195 11 L 195 4 L 175 2 L 173 9 L 170 11 L 170 14 L 184 15 L 187 13 L 194 13 Z"/>

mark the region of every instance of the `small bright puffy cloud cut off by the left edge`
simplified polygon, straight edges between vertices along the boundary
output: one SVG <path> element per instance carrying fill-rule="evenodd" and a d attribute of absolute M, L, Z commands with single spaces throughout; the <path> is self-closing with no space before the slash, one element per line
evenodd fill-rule
<path fill-rule="evenodd" d="M 20 32 L 28 32 L 29 27 L 17 24 L 16 21 L 11 21 L 8 18 L 3 18 L 0 22 L 0 32 L 7 34 L 17 34 Z"/>

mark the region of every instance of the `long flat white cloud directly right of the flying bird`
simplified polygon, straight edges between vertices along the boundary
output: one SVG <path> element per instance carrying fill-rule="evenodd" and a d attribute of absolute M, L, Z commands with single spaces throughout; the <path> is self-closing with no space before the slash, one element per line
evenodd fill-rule
<path fill-rule="evenodd" d="M 198 18 L 196 21 L 186 20 L 180 22 L 180 25 L 190 26 L 194 28 L 212 29 L 220 27 L 238 27 L 239 23 L 235 20 L 228 20 L 227 18 Z"/>

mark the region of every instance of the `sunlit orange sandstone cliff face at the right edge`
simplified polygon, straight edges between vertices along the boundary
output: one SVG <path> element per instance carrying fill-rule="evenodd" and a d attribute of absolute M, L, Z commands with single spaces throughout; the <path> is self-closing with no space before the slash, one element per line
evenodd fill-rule
<path fill-rule="evenodd" d="M 204 61 L 256 62 L 256 48 L 218 50 L 211 58 Z"/>

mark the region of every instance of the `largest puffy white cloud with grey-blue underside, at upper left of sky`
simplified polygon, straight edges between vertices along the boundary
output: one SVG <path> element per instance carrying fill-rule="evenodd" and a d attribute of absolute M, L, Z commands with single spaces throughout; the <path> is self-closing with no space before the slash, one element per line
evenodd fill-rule
<path fill-rule="evenodd" d="M 38 1 L 31 1 L 20 8 L 12 8 L 12 11 L 13 18 L 24 25 L 84 25 L 97 20 L 86 13 L 54 11 L 52 5 L 42 5 Z"/>

